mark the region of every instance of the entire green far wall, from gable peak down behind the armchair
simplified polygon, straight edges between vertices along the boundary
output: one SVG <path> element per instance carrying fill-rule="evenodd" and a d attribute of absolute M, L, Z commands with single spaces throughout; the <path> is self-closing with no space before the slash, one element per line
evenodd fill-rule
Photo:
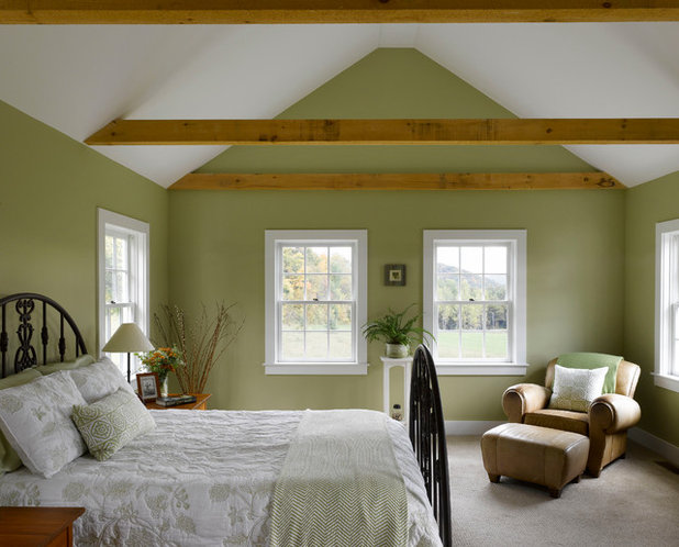
<path fill-rule="evenodd" d="M 280 118 L 511 116 L 414 49 L 377 49 Z M 561 147 L 232 147 L 201 172 L 580 171 Z M 528 231 L 528 379 L 542 381 L 561 351 L 622 345 L 624 193 L 170 192 L 170 294 L 186 306 L 238 302 L 245 328 L 211 380 L 213 408 L 381 409 L 380 344 L 367 377 L 264 373 L 264 231 L 367 228 L 368 316 L 422 304 L 422 231 Z M 382 267 L 404 263 L 407 287 L 385 287 Z M 501 420 L 500 395 L 520 377 L 446 377 L 447 420 Z M 398 390 L 392 389 L 392 395 Z M 401 402 L 393 399 L 393 402 Z"/>

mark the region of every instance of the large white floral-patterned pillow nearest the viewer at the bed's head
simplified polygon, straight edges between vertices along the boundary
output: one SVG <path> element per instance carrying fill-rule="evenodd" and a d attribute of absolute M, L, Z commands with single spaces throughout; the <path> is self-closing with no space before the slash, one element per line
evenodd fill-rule
<path fill-rule="evenodd" d="M 66 371 L 0 391 L 0 429 L 32 472 L 48 479 L 85 454 L 74 404 L 85 400 Z"/>

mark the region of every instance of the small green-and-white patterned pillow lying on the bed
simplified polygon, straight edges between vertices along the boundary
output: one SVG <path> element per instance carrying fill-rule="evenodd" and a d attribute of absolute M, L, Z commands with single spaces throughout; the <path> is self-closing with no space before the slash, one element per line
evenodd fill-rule
<path fill-rule="evenodd" d="M 74 406 L 71 417 L 90 454 L 99 461 L 156 426 L 138 398 L 123 388 L 90 405 Z"/>

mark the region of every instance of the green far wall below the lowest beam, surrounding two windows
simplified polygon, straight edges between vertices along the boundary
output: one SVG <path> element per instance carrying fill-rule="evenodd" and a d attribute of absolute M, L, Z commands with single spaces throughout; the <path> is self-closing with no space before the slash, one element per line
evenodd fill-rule
<path fill-rule="evenodd" d="M 171 192 L 170 291 L 182 305 L 238 302 L 246 323 L 218 369 L 213 408 L 381 408 L 380 344 L 367 377 L 265 376 L 264 231 L 367 228 L 368 316 L 422 302 L 422 230 L 526 228 L 528 378 L 569 350 L 622 346 L 624 193 Z M 405 287 L 385 287 L 385 264 L 404 263 Z M 516 377 L 441 379 L 447 420 L 501 420 Z M 396 394 L 396 392 L 394 392 Z"/>

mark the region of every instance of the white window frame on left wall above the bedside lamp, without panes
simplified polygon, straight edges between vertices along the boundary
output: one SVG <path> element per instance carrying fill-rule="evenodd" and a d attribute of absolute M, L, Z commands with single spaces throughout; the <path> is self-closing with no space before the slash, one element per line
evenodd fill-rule
<path fill-rule="evenodd" d="M 99 311 L 99 354 L 108 342 L 105 334 L 105 236 L 107 232 L 115 232 L 130 236 L 131 243 L 131 264 L 130 269 L 133 276 L 131 283 L 130 301 L 134 303 L 134 323 L 148 336 L 149 332 L 149 233 L 148 223 L 131 219 L 123 214 L 114 213 L 105 209 L 97 209 L 98 222 L 98 311 Z M 112 335 L 113 333 L 111 333 Z M 125 357 L 126 359 L 126 357 Z M 131 381 L 134 381 L 140 362 L 136 356 L 131 359 Z M 126 368 L 122 371 L 126 375 Z"/>

